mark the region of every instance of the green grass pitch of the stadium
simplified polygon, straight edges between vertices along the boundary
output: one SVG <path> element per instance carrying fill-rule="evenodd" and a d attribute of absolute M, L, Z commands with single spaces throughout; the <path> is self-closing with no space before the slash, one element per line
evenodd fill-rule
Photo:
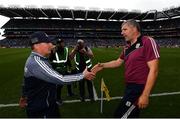
<path fill-rule="evenodd" d="M 93 64 L 117 59 L 121 49 L 94 48 Z M 30 49 L 0 49 L 0 104 L 18 103 L 21 96 L 24 64 Z M 152 93 L 180 91 L 180 49 L 161 48 L 160 69 L 156 85 Z M 110 96 L 122 96 L 124 91 L 123 66 L 117 69 L 105 69 L 98 73 L 94 80 L 98 97 L 100 97 L 100 79 L 110 91 Z M 78 85 L 78 84 L 77 84 Z M 78 88 L 73 84 L 76 94 Z M 63 99 L 67 97 L 63 88 Z M 65 103 L 60 107 L 62 117 L 113 117 L 119 100 L 104 101 L 103 114 L 100 114 L 100 101 L 83 103 Z M 0 108 L 0 117 L 26 117 L 24 109 L 19 107 Z M 150 105 L 141 112 L 141 117 L 180 117 L 180 95 L 151 97 Z"/>

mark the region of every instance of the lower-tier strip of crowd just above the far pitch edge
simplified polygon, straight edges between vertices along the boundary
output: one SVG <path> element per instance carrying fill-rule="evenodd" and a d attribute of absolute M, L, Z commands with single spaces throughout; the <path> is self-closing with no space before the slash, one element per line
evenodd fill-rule
<path fill-rule="evenodd" d="M 65 43 L 68 47 L 74 47 L 77 39 L 65 39 Z M 120 47 L 125 44 L 123 39 L 85 39 L 86 43 L 90 47 Z M 159 38 L 156 42 L 161 47 L 180 47 L 180 38 Z M 13 47 L 13 48 L 27 48 L 29 47 L 28 39 L 5 39 L 0 41 L 1 47 Z"/>

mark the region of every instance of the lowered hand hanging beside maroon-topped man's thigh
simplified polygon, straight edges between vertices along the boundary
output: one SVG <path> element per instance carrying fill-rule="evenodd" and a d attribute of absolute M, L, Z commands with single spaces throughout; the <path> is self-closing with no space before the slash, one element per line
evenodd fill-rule
<path fill-rule="evenodd" d="M 148 104 L 149 104 L 149 96 L 141 95 L 138 99 L 138 103 L 137 103 L 138 107 L 140 109 L 143 109 L 143 108 L 146 108 Z"/>

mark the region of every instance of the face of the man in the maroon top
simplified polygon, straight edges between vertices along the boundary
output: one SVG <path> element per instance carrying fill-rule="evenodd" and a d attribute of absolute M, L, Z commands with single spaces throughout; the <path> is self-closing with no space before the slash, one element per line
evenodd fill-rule
<path fill-rule="evenodd" d="M 124 24 L 121 27 L 121 34 L 125 38 L 126 41 L 132 41 L 135 33 L 135 27 L 129 24 Z"/>

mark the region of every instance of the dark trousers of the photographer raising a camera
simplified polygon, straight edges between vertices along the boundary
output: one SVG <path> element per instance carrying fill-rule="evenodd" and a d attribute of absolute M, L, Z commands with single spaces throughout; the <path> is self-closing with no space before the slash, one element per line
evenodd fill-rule
<path fill-rule="evenodd" d="M 93 85 L 92 85 L 92 81 L 83 79 L 81 81 L 79 81 L 79 92 L 80 92 L 80 97 L 81 98 L 85 98 L 85 82 L 87 83 L 87 88 L 88 88 L 88 93 L 89 93 L 89 98 L 93 99 L 94 95 L 93 95 Z"/>

